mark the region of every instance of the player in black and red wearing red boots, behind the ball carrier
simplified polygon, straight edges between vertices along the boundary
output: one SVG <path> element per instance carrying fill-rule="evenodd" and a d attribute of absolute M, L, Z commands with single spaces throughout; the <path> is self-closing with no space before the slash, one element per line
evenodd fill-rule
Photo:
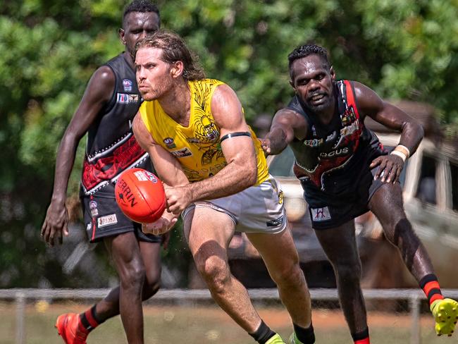
<path fill-rule="evenodd" d="M 126 168 L 152 168 L 132 134 L 131 121 L 142 102 L 132 54 L 135 44 L 159 26 L 159 10 L 151 2 L 135 0 L 125 8 L 119 35 L 126 49 L 94 72 L 58 149 L 42 236 L 52 246 L 68 235 L 68 179 L 78 142 L 87 133 L 80 192 L 87 234 L 91 242 L 104 241 L 120 278 L 120 285 L 86 312 L 58 317 L 56 327 L 67 344 L 86 343 L 89 331 L 117 314 L 128 343 L 144 342 L 142 300 L 159 290 L 161 237 L 142 233 L 140 224 L 123 215 L 114 183 Z"/>

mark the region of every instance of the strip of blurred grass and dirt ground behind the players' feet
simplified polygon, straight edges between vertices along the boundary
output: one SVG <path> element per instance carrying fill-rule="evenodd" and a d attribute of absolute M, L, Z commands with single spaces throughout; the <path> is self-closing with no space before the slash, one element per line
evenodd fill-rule
<path fill-rule="evenodd" d="M 40 307 L 41 306 L 41 307 Z M 62 344 L 54 321 L 63 312 L 81 312 L 86 305 L 65 303 L 58 305 L 27 305 L 25 309 L 25 343 Z M 275 331 L 287 338 L 292 326 L 283 307 L 256 307 L 261 317 Z M 0 303 L 0 343 L 15 344 L 16 308 Z M 340 310 L 314 309 L 314 328 L 317 344 L 352 343 Z M 237 343 L 254 344 L 241 328 L 216 306 L 152 306 L 144 307 L 145 343 Z M 372 344 L 410 343 L 411 319 L 409 314 L 369 312 Z M 120 317 L 106 321 L 94 330 L 88 344 L 127 343 Z M 433 319 L 429 314 L 421 317 L 421 343 L 457 343 L 456 338 L 435 336 Z"/>

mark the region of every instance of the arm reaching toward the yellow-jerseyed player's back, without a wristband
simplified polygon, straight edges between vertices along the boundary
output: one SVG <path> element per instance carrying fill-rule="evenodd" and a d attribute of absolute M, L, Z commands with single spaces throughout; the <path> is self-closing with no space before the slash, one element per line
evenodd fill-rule
<path fill-rule="evenodd" d="M 264 139 L 261 139 L 261 147 L 266 155 L 276 155 L 295 138 L 296 131 L 302 128 L 300 137 L 307 135 L 307 124 L 304 118 L 292 109 L 280 109 L 273 117 L 271 130 Z"/>

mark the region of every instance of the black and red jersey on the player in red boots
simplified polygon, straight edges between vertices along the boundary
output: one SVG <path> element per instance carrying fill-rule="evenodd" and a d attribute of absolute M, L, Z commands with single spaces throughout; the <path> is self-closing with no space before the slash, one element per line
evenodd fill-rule
<path fill-rule="evenodd" d="M 142 104 L 135 70 L 125 60 L 124 54 L 111 59 L 106 66 L 113 70 L 116 85 L 110 101 L 87 132 L 81 178 L 85 195 L 107 186 L 113 188 L 113 182 L 126 168 L 151 170 L 147 152 L 132 133 L 132 120 Z"/>

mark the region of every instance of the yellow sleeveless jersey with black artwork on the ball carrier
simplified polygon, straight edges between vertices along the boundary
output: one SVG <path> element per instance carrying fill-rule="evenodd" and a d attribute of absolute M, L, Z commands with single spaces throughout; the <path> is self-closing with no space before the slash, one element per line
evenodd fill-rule
<path fill-rule="evenodd" d="M 220 145 L 220 128 L 211 113 L 211 97 L 216 87 L 224 85 L 214 79 L 189 81 L 191 93 L 190 123 L 176 123 L 158 101 L 143 102 L 142 120 L 154 141 L 175 156 L 190 182 L 209 178 L 227 165 Z M 266 158 L 253 130 L 249 129 L 257 156 L 256 185 L 268 178 Z"/>

